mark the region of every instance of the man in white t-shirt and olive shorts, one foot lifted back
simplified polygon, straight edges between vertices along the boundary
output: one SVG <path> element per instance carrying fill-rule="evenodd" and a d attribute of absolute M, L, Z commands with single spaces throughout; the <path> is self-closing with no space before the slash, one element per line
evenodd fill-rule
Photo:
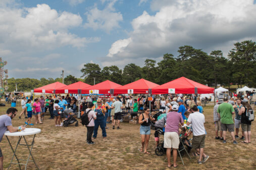
<path fill-rule="evenodd" d="M 204 128 L 205 119 L 204 115 L 198 112 L 198 108 L 196 105 L 194 105 L 191 110 L 193 113 L 189 114 L 189 117 L 187 119 L 187 126 L 189 126 L 191 123 L 191 126 L 193 128 L 192 146 L 196 150 L 196 152 L 200 153 L 197 163 L 202 164 L 205 163 L 210 157 L 203 152 L 204 141 L 206 139 L 206 129 Z"/>

